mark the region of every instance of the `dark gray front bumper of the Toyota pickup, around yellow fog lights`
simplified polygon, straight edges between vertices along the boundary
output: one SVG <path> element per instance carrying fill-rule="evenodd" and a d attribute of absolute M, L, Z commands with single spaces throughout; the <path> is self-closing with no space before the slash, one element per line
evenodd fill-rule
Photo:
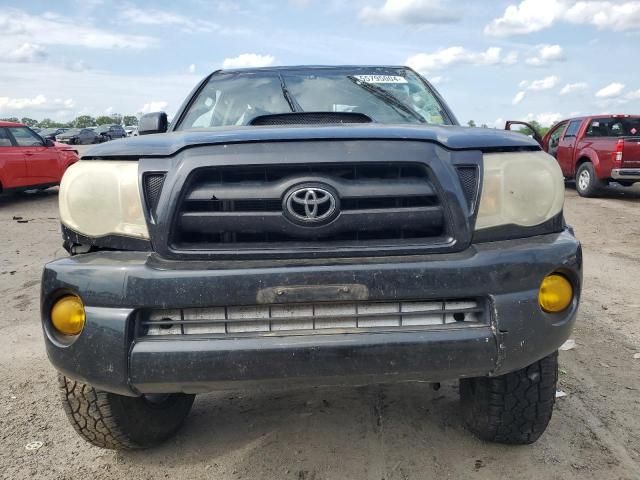
<path fill-rule="evenodd" d="M 576 298 L 567 311 L 546 314 L 538 307 L 538 288 L 554 271 L 572 281 Z M 568 231 L 454 254 L 357 261 L 162 262 L 144 252 L 99 252 L 45 267 L 42 321 L 58 370 L 125 395 L 283 381 L 439 381 L 503 374 L 556 350 L 571 332 L 581 282 L 580 245 Z M 274 288 L 327 285 L 364 286 L 355 290 L 369 301 L 484 298 L 490 322 L 351 334 L 135 337 L 139 309 L 255 305 Z M 57 337 L 49 320 L 52 302 L 69 292 L 87 306 L 85 329 L 73 342 Z M 313 288 L 298 292 L 290 301 L 318 301 Z"/>

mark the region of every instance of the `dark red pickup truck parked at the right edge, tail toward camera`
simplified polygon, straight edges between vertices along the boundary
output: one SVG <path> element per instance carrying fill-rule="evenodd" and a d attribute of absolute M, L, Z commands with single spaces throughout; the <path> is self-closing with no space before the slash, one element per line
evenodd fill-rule
<path fill-rule="evenodd" d="M 576 190 L 591 197 L 609 182 L 623 186 L 640 182 L 640 116 L 593 115 L 570 118 L 554 125 L 541 138 L 526 122 L 507 122 L 505 128 L 525 125 L 542 148 L 553 155 Z"/>

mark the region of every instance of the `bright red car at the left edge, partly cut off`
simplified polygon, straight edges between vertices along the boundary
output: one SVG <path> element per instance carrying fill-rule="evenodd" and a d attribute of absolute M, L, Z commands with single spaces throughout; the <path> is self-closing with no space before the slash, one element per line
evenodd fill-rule
<path fill-rule="evenodd" d="M 26 125 L 0 122 L 0 192 L 58 185 L 78 158 L 73 147 L 43 140 Z"/>

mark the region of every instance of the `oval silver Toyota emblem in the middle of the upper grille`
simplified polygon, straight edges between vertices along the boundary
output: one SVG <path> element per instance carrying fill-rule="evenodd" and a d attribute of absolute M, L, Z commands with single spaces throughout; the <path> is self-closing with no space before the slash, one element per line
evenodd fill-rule
<path fill-rule="evenodd" d="M 305 186 L 293 188 L 284 201 L 285 213 L 301 222 L 322 224 L 333 220 L 338 212 L 336 195 L 327 188 Z"/>

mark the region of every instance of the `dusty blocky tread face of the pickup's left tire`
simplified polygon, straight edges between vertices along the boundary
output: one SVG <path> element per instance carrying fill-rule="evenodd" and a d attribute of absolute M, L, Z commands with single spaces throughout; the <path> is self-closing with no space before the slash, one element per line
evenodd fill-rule
<path fill-rule="evenodd" d="M 120 429 L 111 413 L 108 393 L 63 375 L 58 376 L 58 382 L 67 417 L 76 432 L 87 442 L 112 450 L 142 448 Z"/>

